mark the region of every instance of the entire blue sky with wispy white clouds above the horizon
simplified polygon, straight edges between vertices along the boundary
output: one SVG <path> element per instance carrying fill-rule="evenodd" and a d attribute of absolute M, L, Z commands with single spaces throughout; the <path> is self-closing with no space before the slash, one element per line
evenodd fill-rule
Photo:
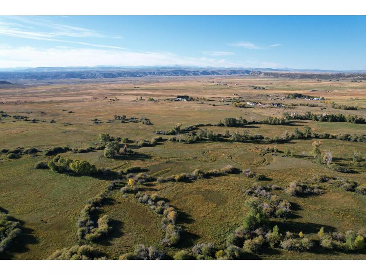
<path fill-rule="evenodd" d="M 365 70 L 365 16 L 0 17 L 0 67 Z"/>

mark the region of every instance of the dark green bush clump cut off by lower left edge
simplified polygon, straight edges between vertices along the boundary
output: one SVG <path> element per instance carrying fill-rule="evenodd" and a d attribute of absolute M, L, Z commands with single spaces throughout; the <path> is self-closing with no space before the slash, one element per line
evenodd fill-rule
<path fill-rule="evenodd" d="M 8 250 L 22 233 L 19 221 L 13 221 L 8 214 L 0 211 L 0 253 Z"/>

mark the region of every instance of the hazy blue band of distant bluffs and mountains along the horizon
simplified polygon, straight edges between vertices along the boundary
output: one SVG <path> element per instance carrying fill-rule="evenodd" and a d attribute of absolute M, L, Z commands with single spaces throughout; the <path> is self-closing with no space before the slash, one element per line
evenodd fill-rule
<path fill-rule="evenodd" d="M 198 67 L 37 67 L 22 68 L 1 72 L 0 80 L 51 80 L 51 79 L 98 79 L 118 77 L 144 76 L 253 76 L 253 77 L 284 77 L 301 79 L 336 79 L 354 78 L 365 80 L 365 71 L 327 71 L 327 70 L 294 70 L 271 68 L 198 68 Z"/>

